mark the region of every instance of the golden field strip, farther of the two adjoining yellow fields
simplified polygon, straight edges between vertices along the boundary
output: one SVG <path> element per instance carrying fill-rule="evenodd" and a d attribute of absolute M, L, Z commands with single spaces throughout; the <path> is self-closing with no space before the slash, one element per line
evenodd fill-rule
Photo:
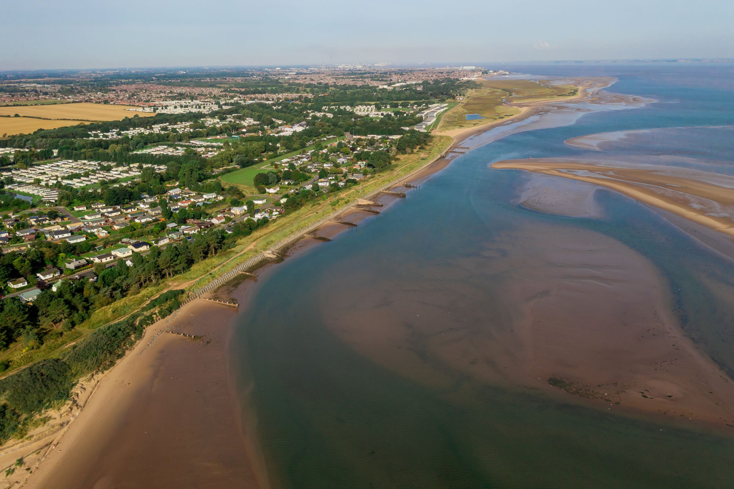
<path fill-rule="evenodd" d="M 125 117 L 149 117 L 154 115 L 153 112 L 132 112 L 130 106 L 125 105 L 104 105 L 104 104 L 55 104 L 55 105 L 34 105 L 22 107 L 3 107 L 0 106 L 0 115 L 21 115 L 25 117 L 43 117 L 46 119 L 67 119 L 67 120 L 120 120 Z M 18 119 L 18 117 L 15 117 Z M 67 124 L 68 126 L 68 124 Z M 42 126 L 38 126 L 42 127 Z M 59 127 L 59 126 L 56 126 Z M 1 134 L 1 131 L 0 131 Z"/>

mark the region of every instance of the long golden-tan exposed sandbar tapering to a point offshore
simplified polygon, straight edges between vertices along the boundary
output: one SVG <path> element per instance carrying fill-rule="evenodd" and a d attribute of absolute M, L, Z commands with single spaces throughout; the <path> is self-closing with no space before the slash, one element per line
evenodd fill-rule
<path fill-rule="evenodd" d="M 733 177 L 661 165 L 636 166 L 574 159 L 521 159 L 492 164 L 493 168 L 528 170 L 605 186 L 734 236 Z"/>

